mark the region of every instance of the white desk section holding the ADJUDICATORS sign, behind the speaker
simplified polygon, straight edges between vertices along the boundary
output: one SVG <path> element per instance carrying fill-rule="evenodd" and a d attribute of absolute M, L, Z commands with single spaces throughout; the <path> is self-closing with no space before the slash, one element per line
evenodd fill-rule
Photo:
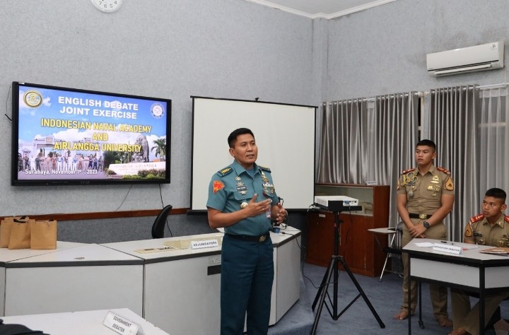
<path fill-rule="evenodd" d="M 300 230 L 271 233 L 274 284 L 269 324 L 276 322 L 300 296 Z M 296 236 L 293 236 L 296 235 Z M 221 238 L 223 233 L 195 235 Z M 107 243 L 104 246 L 144 259 L 144 314 L 172 335 L 219 334 L 221 247 L 179 249 L 140 254 L 135 249 L 163 247 L 164 242 L 193 236 Z"/>

